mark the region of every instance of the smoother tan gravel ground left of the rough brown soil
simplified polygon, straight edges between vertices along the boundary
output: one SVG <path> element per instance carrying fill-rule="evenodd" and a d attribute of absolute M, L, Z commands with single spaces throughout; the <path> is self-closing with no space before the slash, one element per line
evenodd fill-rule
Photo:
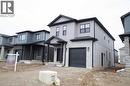
<path fill-rule="evenodd" d="M 89 71 L 85 68 L 73 67 L 52 67 L 41 64 L 18 65 L 17 72 L 13 72 L 11 67 L 7 70 L 0 63 L 0 86 L 47 86 L 38 80 L 41 70 L 57 71 L 61 86 L 80 86 L 82 78 Z"/>

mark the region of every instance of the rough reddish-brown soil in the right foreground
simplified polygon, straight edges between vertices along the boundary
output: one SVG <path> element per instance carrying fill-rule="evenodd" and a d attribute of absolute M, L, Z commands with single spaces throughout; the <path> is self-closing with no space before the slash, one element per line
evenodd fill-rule
<path fill-rule="evenodd" d="M 88 72 L 81 86 L 130 86 L 130 69 L 120 74 L 114 69 Z"/>

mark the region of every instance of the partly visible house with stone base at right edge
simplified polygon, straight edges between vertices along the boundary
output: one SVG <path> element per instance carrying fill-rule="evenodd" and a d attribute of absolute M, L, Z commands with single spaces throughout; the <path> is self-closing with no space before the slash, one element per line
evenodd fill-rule
<path fill-rule="evenodd" d="M 124 34 L 119 35 L 119 37 L 125 46 L 120 48 L 120 63 L 125 64 L 126 61 L 130 63 L 130 12 L 121 16 L 121 21 L 124 27 Z"/>

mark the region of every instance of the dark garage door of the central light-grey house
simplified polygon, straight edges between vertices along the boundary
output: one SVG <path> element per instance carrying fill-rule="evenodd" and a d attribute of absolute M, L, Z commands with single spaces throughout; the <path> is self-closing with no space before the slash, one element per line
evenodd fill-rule
<path fill-rule="evenodd" d="M 69 66 L 86 68 L 86 48 L 69 49 Z"/>

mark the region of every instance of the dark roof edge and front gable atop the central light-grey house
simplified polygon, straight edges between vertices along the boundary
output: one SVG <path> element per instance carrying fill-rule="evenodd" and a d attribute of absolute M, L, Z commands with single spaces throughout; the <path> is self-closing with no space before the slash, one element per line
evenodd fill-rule
<path fill-rule="evenodd" d="M 54 23 L 61 17 L 66 17 L 66 18 L 69 18 L 70 20 L 69 21 L 65 21 L 65 22 Z M 51 27 L 51 26 L 60 25 L 60 24 L 64 24 L 64 23 L 69 23 L 69 22 L 80 23 L 80 22 L 85 22 L 85 21 L 90 21 L 90 20 L 94 20 L 102 28 L 102 30 L 105 31 L 108 34 L 108 36 L 112 40 L 115 41 L 114 37 L 107 31 L 107 29 L 102 25 L 102 23 L 96 17 L 77 20 L 77 19 L 74 19 L 74 18 L 71 18 L 71 17 L 67 17 L 67 16 L 64 16 L 64 15 L 59 15 L 51 23 L 49 23 L 48 26 Z"/>

